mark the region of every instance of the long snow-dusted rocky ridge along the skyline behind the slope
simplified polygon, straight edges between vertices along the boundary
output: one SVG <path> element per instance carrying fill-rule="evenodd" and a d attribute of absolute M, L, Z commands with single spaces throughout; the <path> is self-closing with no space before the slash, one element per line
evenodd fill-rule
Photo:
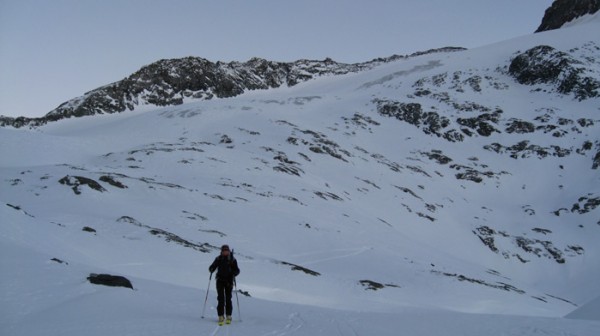
<path fill-rule="evenodd" d="M 160 60 L 131 76 L 61 104 L 42 118 L 0 116 L 0 126 L 36 127 L 71 117 L 120 113 L 140 105 L 180 105 L 184 101 L 228 98 L 249 90 L 294 86 L 319 76 L 343 75 L 371 69 L 382 63 L 426 53 L 464 50 L 440 48 L 409 56 L 390 56 L 369 62 L 345 64 L 331 59 L 290 63 L 253 58 L 247 62 L 211 62 L 199 57 Z"/>

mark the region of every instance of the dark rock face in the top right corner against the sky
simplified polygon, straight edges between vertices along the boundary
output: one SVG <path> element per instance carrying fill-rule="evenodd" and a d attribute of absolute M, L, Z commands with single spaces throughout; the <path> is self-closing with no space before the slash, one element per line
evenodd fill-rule
<path fill-rule="evenodd" d="M 586 14 L 593 14 L 600 10 L 600 0 L 556 0 L 546 10 L 542 23 L 536 33 L 546 30 L 558 29 Z"/>

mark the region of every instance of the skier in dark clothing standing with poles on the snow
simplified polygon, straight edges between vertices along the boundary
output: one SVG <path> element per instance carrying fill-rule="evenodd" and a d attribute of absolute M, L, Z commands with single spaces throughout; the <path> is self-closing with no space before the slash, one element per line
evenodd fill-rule
<path fill-rule="evenodd" d="M 231 313 L 233 304 L 231 301 L 231 291 L 235 277 L 240 274 L 237 260 L 233 257 L 228 245 L 221 246 L 221 254 L 215 258 L 215 261 L 208 268 L 212 273 L 217 271 L 217 314 L 219 315 L 219 324 L 223 322 L 231 324 Z M 227 319 L 225 319 L 225 315 Z"/>

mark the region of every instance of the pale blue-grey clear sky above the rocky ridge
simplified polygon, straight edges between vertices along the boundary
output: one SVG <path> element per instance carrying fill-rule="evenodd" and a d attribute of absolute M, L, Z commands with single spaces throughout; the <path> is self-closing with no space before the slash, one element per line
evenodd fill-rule
<path fill-rule="evenodd" d="M 0 114 L 42 116 L 164 58 L 324 59 L 532 33 L 552 0 L 0 0 Z"/>

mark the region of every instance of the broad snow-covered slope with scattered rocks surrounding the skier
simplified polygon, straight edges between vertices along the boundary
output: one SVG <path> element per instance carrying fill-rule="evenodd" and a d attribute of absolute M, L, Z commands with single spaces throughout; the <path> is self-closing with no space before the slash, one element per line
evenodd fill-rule
<path fill-rule="evenodd" d="M 550 45 L 599 79 L 598 26 L 0 128 L 0 333 L 597 335 L 562 316 L 600 296 L 599 100 L 507 69 Z M 223 243 L 249 296 L 218 329 Z"/>

